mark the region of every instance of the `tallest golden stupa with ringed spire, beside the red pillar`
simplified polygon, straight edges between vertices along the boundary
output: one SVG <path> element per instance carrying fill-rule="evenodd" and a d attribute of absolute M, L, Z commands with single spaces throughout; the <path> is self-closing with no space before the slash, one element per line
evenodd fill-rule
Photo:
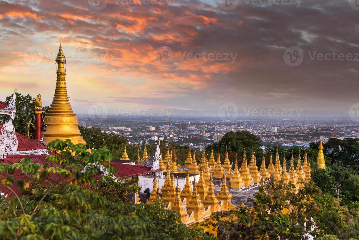
<path fill-rule="evenodd" d="M 86 145 L 79 131 L 78 119 L 71 108 L 69 97 L 67 97 L 65 80 L 66 58 L 64 52 L 62 52 L 61 44 L 56 57 L 56 63 L 57 78 L 55 95 L 44 118 L 44 122 L 47 124 L 47 131 L 43 132 L 43 136 L 47 142 L 56 139 L 70 139 L 74 144 L 83 143 Z"/>

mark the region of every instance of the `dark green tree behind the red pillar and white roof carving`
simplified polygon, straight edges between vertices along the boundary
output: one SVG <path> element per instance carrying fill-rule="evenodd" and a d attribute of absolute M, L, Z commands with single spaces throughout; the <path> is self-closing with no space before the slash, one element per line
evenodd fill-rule
<path fill-rule="evenodd" d="M 35 98 L 31 97 L 30 94 L 22 95 L 21 93 L 16 94 L 16 117 L 13 121 L 15 131 L 27 136 L 27 124 L 31 120 L 32 109 L 34 109 Z M 5 103 L 8 103 L 12 99 L 12 96 L 6 97 Z M 46 111 L 48 106 L 42 107 Z M 9 121 L 9 115 L 0 115 L 0 123 Z"/>

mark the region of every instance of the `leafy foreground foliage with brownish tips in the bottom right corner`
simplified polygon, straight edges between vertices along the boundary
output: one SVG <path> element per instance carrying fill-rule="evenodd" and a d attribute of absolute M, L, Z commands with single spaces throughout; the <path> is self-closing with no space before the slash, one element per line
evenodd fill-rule
<path fill-rule="evenodd" d="M 306 184 L 298 194 L 293 185 L 270 182 L 260 185 L 253 208 L 213 214 L 212 226 L 228 239 L 309 239 L 309 235 L 335 235 L 349 239 L 359 234 L 359 211 L 348 211 L 333 197 Z M 314 225 L 315 224 L 315 225 Z"/>

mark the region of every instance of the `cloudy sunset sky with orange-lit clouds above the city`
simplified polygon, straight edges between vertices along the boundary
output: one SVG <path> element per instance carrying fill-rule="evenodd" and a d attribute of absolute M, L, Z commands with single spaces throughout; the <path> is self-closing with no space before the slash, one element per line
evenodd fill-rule
<path fill-rule="evenodd" d="M 234 0 L 229 10 L 221 1 L 2 0 L 0 99 L 17 88 L 49 105 L 61 42 L 77 114 L 97 102 L 178 113 L 234 102 L 348 114 L 359 102 L 359 4 Z M 303 50 L 299 66 L 284 60 L 293 46 Z"/>

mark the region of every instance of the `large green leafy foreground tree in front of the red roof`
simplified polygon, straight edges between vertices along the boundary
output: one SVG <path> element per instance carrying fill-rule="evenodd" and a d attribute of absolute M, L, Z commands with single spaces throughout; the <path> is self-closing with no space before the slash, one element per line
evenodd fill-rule
<path fill-rule="evenodd" d="M 189 229 L 163 202 L 130 204 L 127 193 L 139 191 L 133 179 L 114 181 L 107 149 L 94 149 L 67 141 L 52 141 L 48 149 L 59 152 L 44 164 L 23 159 L 0 164 L 7 176 L 3 187 L 11 197 L 1 197 L 1 239 L 213 239 L 202 228 Z M 109 174 L 98 175 L 97 166 Z M 86 171 L 83 169 L 86 167 Z M 22 177 L 14 173 L 22 171 Z M 21 194 L 14 191 L 18 186 Z"/>

